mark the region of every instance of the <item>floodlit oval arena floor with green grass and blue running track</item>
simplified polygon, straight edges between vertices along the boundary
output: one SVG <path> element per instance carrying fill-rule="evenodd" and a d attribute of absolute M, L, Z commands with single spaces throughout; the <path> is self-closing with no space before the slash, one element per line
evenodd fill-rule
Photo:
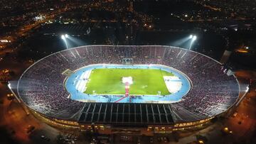
<path fill-rule="evenodd" d="M 70 99 L 83 102 L 174 103 L 190 88 L 185 74 L 164 65 L 88 65 L 65 79 Z"/>

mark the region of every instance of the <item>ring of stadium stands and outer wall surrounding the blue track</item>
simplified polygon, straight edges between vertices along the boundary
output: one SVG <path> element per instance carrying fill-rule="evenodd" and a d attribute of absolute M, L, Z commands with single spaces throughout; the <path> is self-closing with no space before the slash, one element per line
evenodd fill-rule
<path fill-rule="evenodd" d="M 191 89 L 175 103 L 75 101 L 65 89 L 72 72 L 95 64 L 164 65 L 183 72 Z M 161 133 L 198 128 L 230 109 L 240 92 L 235 75 L 198 52 L 162 45 L 86 45 L 48 55 L 23 72 L 18 98 L 43 121 L 66 128 Z"/>

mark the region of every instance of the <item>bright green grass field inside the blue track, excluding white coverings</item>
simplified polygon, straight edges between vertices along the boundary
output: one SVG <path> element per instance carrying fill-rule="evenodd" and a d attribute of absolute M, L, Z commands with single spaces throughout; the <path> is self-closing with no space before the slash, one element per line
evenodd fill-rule
<path fill-rule="evenodd" d="M 86 84 L 86 94 L 124 94 L 122 77 L 132 77 L 129 94 L 161 95 L 170 94 L 163 76 L 174 74 L 162 70 L 145 69 L 95 69 Z"/>

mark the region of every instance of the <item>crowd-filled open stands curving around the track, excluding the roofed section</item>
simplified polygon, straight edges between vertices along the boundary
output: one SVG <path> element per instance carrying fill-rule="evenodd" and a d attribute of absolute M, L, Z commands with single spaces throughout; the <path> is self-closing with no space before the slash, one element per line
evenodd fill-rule
<path fill-rule="evenodd" d="M 132 58 L 133 64 L 174 67 L 191 79 L 191 91 L 181 101 L 170 104 L 177 121 L 215 116 L 238 99 L 238 82 L 234 76 L 223 72 L 220 63 L 198 52 L 153 45 L 92 45 L 56 52 L 23 73 L 18 82 L 18 94 L 28 107 L 40 113 L 77 120 L 76 114 L 84 103 L 68 98 L 65 76 L 61 73 L 97 63 L 122 64 L 124 58 Z"/>

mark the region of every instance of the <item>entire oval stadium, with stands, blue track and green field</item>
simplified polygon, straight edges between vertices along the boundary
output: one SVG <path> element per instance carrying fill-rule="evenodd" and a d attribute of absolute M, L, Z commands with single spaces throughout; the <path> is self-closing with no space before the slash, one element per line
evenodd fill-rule
<path fill-rule="evenodd" d="M 28 67 L 17 85 L 19 99 L 43 120 L 100 131 L 196 128 L 232 108 L 239 92 L 216 60 L 162 45 L 55 52 Z"/>

